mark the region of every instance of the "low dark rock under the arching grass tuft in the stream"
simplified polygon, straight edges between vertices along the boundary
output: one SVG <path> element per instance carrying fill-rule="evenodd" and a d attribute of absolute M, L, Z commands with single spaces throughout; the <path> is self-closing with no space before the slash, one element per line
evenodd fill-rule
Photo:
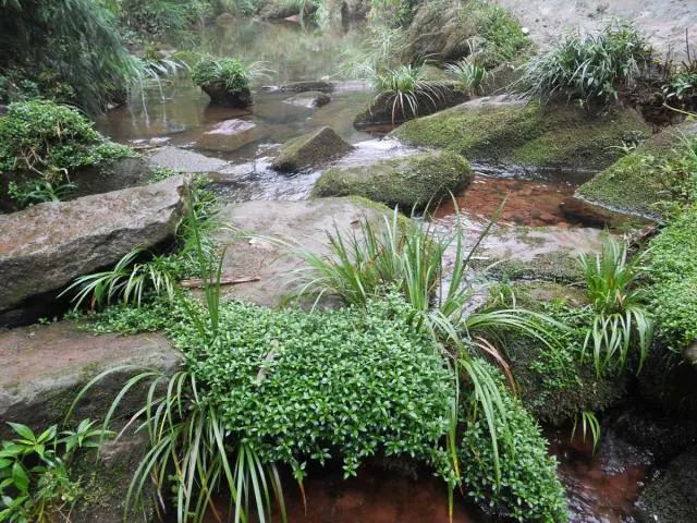
<path fill-rule="evenodd" d="M 416 94 L 416 110 L 406 102 L 403 106 L 395 106 L 395 95 L 390 93 L 378 95 L 356 115 L 353 125 L 356 129 L 366 129 L 371 125 L 402 123 L 463 104 L 469 99 L 469 96 L 460 90 L 454 83 L 433 82 L 429 90 Z"/>

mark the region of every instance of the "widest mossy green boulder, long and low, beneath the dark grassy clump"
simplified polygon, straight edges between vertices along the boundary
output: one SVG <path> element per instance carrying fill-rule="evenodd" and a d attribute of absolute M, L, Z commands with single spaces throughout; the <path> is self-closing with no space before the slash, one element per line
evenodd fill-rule
<path fill-rule="evenodd" d="M 615 146 L 648 137 L 650 132 L 632 109 L 590 114 L 575 106 L 540 106 L 498 96 L 407 122 L 392 135 L 470 160 L 599 171 L 621 155 Z"/>

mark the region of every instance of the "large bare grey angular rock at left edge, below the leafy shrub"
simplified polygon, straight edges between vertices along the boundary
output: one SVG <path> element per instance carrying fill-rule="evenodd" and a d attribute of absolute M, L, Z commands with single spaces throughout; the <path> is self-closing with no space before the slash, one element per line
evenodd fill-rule
<path fill-rule="evenodd" d="M 185 211 L 187 185 L 186 177 L 172 177 L 0 216 L 0 325 L 4 312 L 32 296 L 114 265 L 136 246 L 171 239 Z"/>

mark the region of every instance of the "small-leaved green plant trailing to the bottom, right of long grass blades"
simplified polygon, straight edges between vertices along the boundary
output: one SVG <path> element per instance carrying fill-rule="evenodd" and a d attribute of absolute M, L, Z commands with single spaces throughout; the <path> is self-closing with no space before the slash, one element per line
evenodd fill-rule
<path fill-rule="evenodd" d="M 493 481 L 494 455 L 488 445 L 484 418 L 467 425 L 461 446 L 463 479 L 467 495 L 489 510 L 519 522 L 568 521 L 564 488 L 557 477 L 557 460 L 547 452 L 540 427 L 523 404 L 502 391 L 506 424 L 497 422 L 501 481 Z M 504 435 L 513 435 L 512 445 Z"/>

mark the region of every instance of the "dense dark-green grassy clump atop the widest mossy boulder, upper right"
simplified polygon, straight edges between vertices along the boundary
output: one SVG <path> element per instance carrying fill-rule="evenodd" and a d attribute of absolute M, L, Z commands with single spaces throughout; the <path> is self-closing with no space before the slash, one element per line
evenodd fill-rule
<path fill-rule="evenodd" d="M 608 104 L 631 92 L 651 59 L 646 39 L 615 22 L 597 35 L 567 35 L 523 68 L 519 85 L 542 100 L 555 94 Z"/>

